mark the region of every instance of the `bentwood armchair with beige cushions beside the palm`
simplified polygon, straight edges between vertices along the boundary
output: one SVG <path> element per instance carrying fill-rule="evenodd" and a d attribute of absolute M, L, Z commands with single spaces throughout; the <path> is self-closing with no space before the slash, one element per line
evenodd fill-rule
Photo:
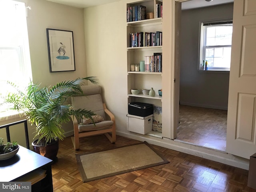
<path fill-rule="evenodd" d="M 94 124 L 82 124 L 82 120 L 72 117 L 74 125 L 74 148 L 79 150 L 79 138 L 104 134 L 111 143 L 116 142 L 116 123 L 114 115 L 106 108 L 102 102 L 101 87 L 98 85 L 82 86 L 84 95 L 73 96 L 71 103 L 74 109 L 91 110 L 95 114 L 104 118 L 103 121 Z M 109 133 L 112 133 L 110 136 Z"/>

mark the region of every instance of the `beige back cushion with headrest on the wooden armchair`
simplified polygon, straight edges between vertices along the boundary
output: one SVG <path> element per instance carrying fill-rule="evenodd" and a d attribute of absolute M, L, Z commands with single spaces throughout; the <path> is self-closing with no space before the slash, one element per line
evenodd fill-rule
<path fill-rule="evenodd" d="M 71 103 L 76 109 L 91 110 L 95 114 L 102 116 L 106 120 L 103 102 L 101 97 L 101 88 L 98 85 L 82 86 L 84 96 L 74 96 Z"/>

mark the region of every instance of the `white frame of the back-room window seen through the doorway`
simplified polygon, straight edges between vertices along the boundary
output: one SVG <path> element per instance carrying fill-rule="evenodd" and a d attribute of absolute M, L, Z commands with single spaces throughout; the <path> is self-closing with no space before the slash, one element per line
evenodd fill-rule
<path fill-rule="evenodd" d="M 222 20 L 205 20 L 205 21 L 200 21 L 199 22 L 199 38 L 198 38 L 198 65 L 197 69 L 198 71 L 208 71 L 208 72 L 229 72 L 230 68 L 226 67 L 208 67 L 208 70 L 200 70 L 200 64 L 203 65 L 203 58 L 205 58 L 206 54 L 206 48 L 224 48 L 224 47 L 232 47 L 231 45 L 216 45 L 216 46 L 206 46 L 204 42 L 206 42 L 206 30 L 203 28 L 204 24 L 220 24 L 220 23 L 225 23 L 225 22 L 232 22 L 233 23 L 233 18 L 227 18 L 227 19 L 222 19 Z"/>

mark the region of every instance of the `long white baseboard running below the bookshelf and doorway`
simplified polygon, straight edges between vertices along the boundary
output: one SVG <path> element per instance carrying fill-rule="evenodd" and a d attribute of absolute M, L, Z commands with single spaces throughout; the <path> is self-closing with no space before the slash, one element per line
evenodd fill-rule
<path fill-rule="evenodd" d="M 210 149 L 202 146 L 195 146 L 188 143 L 177 142 L 175 140 L 161 139 L 161 138 L 156 138 L 148 135 L 135 134 L 130 132 L 117 131 L 116 134 L 123 137 L 139 140 L 139 141 L 146 141 L 150 144 L 176 150 L 179 152 L 184 152 L 186 154 L 198 156 L 208 160 L 213 160 L 213 161 L 227 164 L 230 166 L 249 170 L 248 159 L 234 156 L 232 154 L 228 154 L 223 151 L 218 151 L 218 150 L 214 150 L 214 149 Z"/>

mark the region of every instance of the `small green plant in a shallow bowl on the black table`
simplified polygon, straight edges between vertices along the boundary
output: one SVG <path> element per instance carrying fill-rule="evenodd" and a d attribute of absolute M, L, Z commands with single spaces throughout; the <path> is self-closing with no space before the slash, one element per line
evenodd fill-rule
<path fill-rule="evenodd" d="M 4 144 L 4 139 L 0 137 L 0 160 L 12 158 L 19 150 L 17 142 L 7 142 Z"/>

